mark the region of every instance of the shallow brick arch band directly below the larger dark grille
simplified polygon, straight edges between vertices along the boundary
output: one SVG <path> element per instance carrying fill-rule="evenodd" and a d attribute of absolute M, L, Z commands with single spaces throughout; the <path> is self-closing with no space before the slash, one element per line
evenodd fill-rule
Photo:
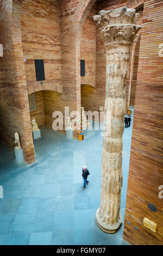
<path fill-rule="evenodd" d="M 28 86 L 28 95 L 39 92 L 40 90 L 52 90 L 53 92 L 63 94 L 61 86 L 55 86 L 51 83 L 43 82 L 43 84 Z"/>

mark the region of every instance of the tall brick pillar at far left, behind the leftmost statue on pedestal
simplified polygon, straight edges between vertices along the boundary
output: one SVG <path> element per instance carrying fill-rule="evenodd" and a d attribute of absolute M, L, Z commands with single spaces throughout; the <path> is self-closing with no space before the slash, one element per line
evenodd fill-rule
<path fill-rule="evenodd" d="M 22 0 L 2 0 L 0 3 L 1 35 L 4 47 L 5 88 L 9 96 L 8 116 L 3 118 L 4 136 L 20 135 L 24 161 L 35 161 L 32 127 L 28 104 L 26 75 L 21 41 Z M 5 138 L 8 141 L 8 138 Z"/>

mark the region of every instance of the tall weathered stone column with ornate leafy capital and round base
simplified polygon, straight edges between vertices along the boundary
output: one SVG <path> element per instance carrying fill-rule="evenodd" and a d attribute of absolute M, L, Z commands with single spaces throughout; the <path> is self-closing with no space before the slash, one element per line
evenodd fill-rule
<path fill-rule="evenodd" d="M 99 12 L 93 17 L 101 28 L 106 48 L 106 98 L 102 152 L 101 202 L 96 221 L 106 233 L 115 233 L 122 223 L 122 135 L 126 114 L 126 79 L 131 42 L 139 14 L 126 7 Z"/>

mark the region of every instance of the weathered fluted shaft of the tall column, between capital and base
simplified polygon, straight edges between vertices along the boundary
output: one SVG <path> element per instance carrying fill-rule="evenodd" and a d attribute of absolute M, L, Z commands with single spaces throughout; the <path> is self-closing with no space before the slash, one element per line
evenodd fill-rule
<path fill-rule="evenodd" d="M 106 99 L 102 153 L 102 191 L 99 217 L 106 224 L 120 217 L 122 188 L 122 135 L 126 113 L 126 75 L 129 46 L 106 46 Z M 108 120 L 107 120 L 108 119 Z M 108 124 L 110 125 L 108 126 Z"/>

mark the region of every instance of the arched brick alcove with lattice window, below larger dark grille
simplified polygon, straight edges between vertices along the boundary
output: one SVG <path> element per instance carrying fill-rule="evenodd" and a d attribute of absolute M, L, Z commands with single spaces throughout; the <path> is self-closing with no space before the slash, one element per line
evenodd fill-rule
<path fill-rule="evenodd" d="M 55 119 L 53 113 L 54 112 L 62 112 L 64 109 L 61 109 L 61 94 L 52 90 L 40 90 L 28 95 L 29 102 L 29 111 L 30 111 L 30 120 L 34 118 L 36 120 L 36 124 L 40 129 L 41 137 L 39 139 L 34 139 L 35 145 L 35 154 L 38 159 L 39 156 L 43 156 L 43 152 L 45 152 L 45 156 L 47 153 L 51 152 L 52 144 L 57 137 L 60 137 L 59 132 L 63 133 L 64 130 L 64 119 L 59 119 L 59 128 L 57 131 L 53 130 L 53 122 Z M 52 136 L 51 140 L 48 140 L 49 135 Z M 54 139 L 54 141 L 53 141 Z M 46 150 L 46 148 L 48 150 Z"/>

